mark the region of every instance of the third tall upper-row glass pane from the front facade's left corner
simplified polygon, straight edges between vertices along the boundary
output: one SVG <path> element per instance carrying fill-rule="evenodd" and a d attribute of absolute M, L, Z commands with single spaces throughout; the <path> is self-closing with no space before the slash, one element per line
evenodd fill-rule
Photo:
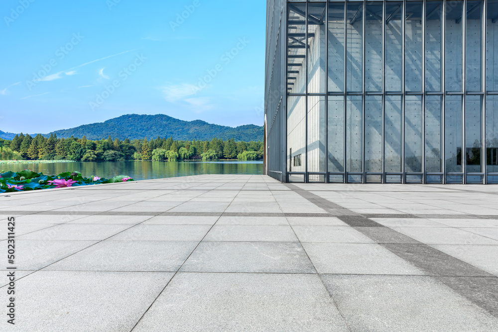
<path fill-rule="evenodd" d="M 344 2 L 329 3 L 329 91 L 344 92 Z"/>

